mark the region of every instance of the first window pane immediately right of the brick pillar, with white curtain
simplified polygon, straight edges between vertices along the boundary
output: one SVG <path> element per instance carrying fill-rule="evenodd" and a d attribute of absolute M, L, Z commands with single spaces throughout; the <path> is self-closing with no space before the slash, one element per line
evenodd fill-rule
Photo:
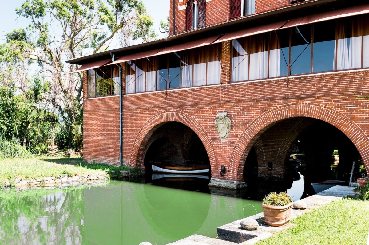
<path fill-rule="evenodd" d="M 249 45 L 248 38 L 232 40 L 232 82 L 248 80 Z"/>

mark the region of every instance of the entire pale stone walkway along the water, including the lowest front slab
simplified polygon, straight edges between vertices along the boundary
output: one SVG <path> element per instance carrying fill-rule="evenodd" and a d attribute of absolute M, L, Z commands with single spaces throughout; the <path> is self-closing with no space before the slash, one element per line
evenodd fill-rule
<path fill-rule="evenodd" d="M 354 187 L 348 186 L 334 186 L 328 190 L 324 190 L 313 196 L 306 197 L 303 200 L 307 204 L 307 209 L 298 210 L 292 209 L 291 219 L 296 218 L 304 213 L 311 210 L 319 208 L 324 204 L 330 203 L 334 200 L 340 200 L 342 197 L 347 197 L 347 195 L 354 195 Z M 190 237 L 184 238 L 182 240 L 172 242 L 168 245 L 231 245 L 231 244 L 254 244 L 264 238 L 272 236 L 275 232 L 282 231 L 291 227 L 291 223 L 287 223 L 280 227 L 272 227 L 263 224 L 262 218 L 263 213 L 251 216 L 259 223 L 259 227 L 255 231 L 244 230 L 240 222 L 241 220 L 234 221 L 232 223 L 218 227 L 218 238 L 208 238 L 200 235 L 192 235 Z"/>

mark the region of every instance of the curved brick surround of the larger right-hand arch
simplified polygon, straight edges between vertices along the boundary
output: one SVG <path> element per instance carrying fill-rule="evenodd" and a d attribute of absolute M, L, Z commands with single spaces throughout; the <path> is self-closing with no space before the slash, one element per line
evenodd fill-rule
<path fill-rule="evenodd" d="M 366 171 L 369 172 L 369 138 L 363 130 L 343 113 L 325 105 L 310 102 L 289 103 L 277 106 L 251 122 L 235 143 L 229 162 L 230 181 L 242 181 L 242 173 L 248 152 L 255 140 L 277 122 L 293 117 L 308 117 L 322 120 L 341 130 L 359 151 Z M 256 139 L 255 139 L 256 138 Z M 232 178 L 235 176 L 235 178 Z"/>

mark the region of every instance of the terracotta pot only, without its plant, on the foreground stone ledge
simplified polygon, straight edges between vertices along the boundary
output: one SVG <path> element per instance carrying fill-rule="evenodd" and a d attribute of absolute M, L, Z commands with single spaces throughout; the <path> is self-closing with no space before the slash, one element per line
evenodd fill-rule
<path fill-rule="evenodd" d="M 281 226 L 290 220 L 293 202 L 284 206 L 269 206 L 262 203 L 265 224 Z"/>

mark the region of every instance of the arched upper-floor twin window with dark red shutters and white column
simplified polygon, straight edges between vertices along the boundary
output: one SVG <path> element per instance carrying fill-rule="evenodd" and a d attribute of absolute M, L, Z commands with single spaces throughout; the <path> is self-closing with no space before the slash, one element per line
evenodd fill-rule
<path fill-rule="evenodd" d="M 206 0 L 189 0 L 186 11 L 186 30 L 206 25 Z"/>

